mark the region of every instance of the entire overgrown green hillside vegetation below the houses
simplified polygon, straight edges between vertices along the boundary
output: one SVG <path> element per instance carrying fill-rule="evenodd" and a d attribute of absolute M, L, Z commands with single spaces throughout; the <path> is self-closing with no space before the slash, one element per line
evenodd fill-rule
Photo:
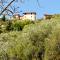
<path fill-rule="evenodd" d="M 0 23 L 0 60 L 60 60 L 60 19 Z"/>

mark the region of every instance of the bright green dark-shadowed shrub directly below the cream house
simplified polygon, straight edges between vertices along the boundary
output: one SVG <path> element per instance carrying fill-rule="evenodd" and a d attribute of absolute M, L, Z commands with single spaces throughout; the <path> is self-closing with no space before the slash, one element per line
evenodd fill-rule
<path fill-rule="evenodd" d="M 33 22 L 30 20 L 24 20 L 24 21 L 15 21 L 13 24 L 13 29 L 20 31 L 24 28 L 25 25 L 32 24 Z"/>

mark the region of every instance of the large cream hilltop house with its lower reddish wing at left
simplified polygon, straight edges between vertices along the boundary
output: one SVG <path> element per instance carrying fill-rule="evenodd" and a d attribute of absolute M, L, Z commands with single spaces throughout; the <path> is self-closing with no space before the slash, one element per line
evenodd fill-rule
<path fill-rule="evenodd" d="M 25 12 L 23 13 L 23 16 L 20 16 L 19 14 L 14 14 L 14 18 L 19 19 L 19 20 L 36 20 L 36 13 L 35 12 Z"/>

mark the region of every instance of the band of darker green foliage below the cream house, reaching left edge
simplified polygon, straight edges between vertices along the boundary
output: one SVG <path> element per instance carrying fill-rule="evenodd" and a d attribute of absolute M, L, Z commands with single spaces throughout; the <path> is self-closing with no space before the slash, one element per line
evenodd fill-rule
<path fill-rule="evenodd" d="M 14 20 L 14 21 L 0 21 L 0 32 L 7 31 L 21 31 L 25 25 L 34 24 L 33 21 L 30 20 Z"/>

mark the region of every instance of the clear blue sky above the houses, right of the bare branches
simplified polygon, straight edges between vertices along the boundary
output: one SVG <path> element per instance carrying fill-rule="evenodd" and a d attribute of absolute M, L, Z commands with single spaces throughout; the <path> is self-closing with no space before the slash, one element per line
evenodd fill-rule
<path fill-rule="evenodd" d="M 37 0 L 24 0 L 24 2 L 20 4 L 20 11 L 22 11 L 20 13 L 34 11 L 37 13 L 37 18 L 43 17 L 45 13 L 60 13 L 60 0 L 39 0 L 39 3 L 40 7 L 38 6 Z"/>

